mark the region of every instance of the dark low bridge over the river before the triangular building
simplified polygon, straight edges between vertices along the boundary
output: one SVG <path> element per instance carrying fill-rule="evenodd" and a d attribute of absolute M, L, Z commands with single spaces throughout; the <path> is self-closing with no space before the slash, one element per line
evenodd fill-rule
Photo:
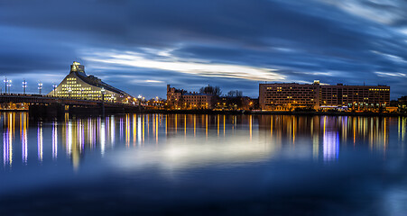
<path fill-rule="evenodd" d="M 63 115 L 66 112 L 79 114 L 105 114 L 140 112 L 143 105 L 135 103 L 114 103 L 86 99 L 54 97 L 42 94 L 0 94 L 3 110 L 28 110 L 35 116 Z"/>

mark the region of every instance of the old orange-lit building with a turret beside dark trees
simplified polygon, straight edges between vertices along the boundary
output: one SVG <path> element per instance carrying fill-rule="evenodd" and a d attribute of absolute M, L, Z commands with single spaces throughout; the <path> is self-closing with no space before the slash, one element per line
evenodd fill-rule
<path fill-rule="evenodd" d="M 187 92 L 167 85 L 167 105 L 174 109 L 213 109 L 216 95 Z"/>

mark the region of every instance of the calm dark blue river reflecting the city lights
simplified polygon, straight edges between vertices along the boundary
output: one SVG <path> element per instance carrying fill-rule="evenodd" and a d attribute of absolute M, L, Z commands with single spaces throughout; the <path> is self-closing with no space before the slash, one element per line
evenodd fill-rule
<path fill-rule="evenodd" d="M 407 215 L 407 119 L 0 113 L 1 215 Z"/>

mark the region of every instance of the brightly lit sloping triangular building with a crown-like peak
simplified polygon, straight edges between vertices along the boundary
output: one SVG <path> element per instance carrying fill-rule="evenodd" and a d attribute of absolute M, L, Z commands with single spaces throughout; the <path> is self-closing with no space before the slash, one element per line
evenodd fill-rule
<path fill-rule="evenodd" d="M 87 76 L 85 67 L 76 61 L 70 66 L 69 75 L 65 76 L 60 85 L 47 95 L 115 103 L 133 103 L 134 101 L 130 94 L 112 85 L 107 85 L 96 76 Z"/>

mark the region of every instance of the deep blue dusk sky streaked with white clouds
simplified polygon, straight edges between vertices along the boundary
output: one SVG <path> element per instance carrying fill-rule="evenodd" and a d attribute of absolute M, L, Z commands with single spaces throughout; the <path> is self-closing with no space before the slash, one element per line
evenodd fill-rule
<path fill-rule="evenodd" d="M 406 12 L 405 0 L 0 0 L 0 76 L 48 92 L 77 60 L 146 97 L 319 79 L 391 85 L 394 99 L 407 94 Z"/>

